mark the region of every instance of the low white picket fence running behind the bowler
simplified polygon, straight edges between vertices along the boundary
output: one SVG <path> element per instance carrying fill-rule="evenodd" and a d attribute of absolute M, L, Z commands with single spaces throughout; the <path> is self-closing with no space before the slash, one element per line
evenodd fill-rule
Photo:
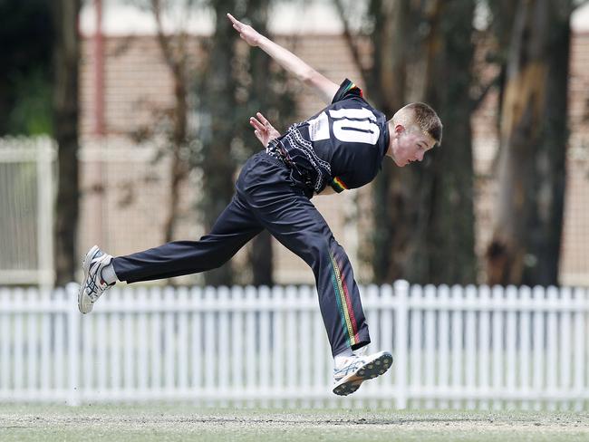
<path fill-rule="evenodd" d="M 0 289 L 0 401 L 235 407 L 576 409 L 589 404 L 586 289 L 362 287 L 391 372 L 348 398 L 314 288 Z"/>

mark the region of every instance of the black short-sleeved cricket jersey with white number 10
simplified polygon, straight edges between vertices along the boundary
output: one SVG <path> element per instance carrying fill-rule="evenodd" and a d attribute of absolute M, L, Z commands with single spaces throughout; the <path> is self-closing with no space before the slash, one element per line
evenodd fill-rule
<path fill-rule="evenodd" d="M 381 169 L 389 147 L 387 119 L 346 79 L 329 106 L 293 124 L 268 145 L 268 151 L 277 146 L 283 148 L 293 178 L 310 195 L 311 190 L 319 193 L 326 186 L 342 192 L 371 182 Z"/>

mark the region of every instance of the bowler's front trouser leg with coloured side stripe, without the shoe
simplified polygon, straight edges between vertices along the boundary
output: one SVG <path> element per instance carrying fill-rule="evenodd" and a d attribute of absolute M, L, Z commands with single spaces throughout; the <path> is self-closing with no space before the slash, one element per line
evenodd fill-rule
<path fill-rule="evenodd" d="M 266 170 L 267 169 L 267 170 Z M 319 306 L 333 356 L 370 343 L 352 264 L 323 216 L 303 192 L 267 164 L 264 185 L 246 187 L 243 197 L 262 226 L 313 270 Z"/>

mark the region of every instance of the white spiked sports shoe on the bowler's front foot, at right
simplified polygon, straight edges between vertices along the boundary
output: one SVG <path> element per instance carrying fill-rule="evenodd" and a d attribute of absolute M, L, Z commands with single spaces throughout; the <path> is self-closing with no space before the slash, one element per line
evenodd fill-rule
<path fill-rule="evenodd" d="M 364 380 L 381 376 L 392 365 L 392 355 L 388 351 L 367 356 L 353 355 L 343 360 L 339 367 L 333 369 L 333 393 L 348 396 L 360 388 Z"/>

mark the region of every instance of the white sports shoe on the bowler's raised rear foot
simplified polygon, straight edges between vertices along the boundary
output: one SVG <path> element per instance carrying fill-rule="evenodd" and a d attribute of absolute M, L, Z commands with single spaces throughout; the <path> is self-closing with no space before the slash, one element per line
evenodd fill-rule
<path fill-rule="evenodd" d="M 102 280 L 102 269 L 111 264 L 111 255 L 107 255 L 94 245 L 84 258 L 82 268 L 84 269 L 84 280 L 78 291 L 78 308 L 82 313 L 92 312 L 92 307 L 101 294 L 109 290 L 110 285 Z"/>

